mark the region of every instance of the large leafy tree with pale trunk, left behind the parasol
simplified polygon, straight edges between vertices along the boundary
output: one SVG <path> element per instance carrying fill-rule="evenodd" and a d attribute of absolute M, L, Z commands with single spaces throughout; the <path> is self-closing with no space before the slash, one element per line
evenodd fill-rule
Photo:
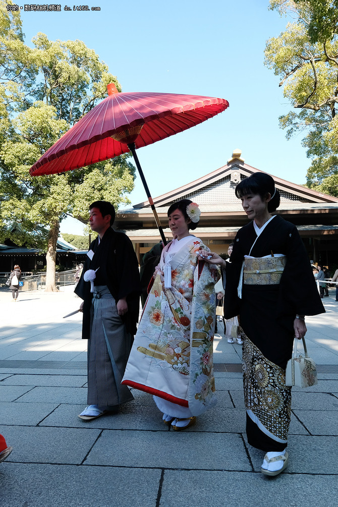
<path fill-rule="evenodd" d="M 24 42 L 19 12 L 0 0 L 0 240 L 47 249 L 46 290 L 56 290 L 56 241 L 66 213 L 88 221 L 97 199 L 118 206 L 134 186 L 129 155 L 60 175 L 29 175 L 59 137 L 121 86 L 82 41 L 49 41 L 37 33 Z M 15 226 L 13 227 L 13 224 Z"/>

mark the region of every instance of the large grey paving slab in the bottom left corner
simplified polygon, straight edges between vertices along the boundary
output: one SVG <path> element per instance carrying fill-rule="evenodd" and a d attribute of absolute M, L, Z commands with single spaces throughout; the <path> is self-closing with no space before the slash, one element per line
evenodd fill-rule
<path fill-rule="evenodd" d="M 6 462 L 0 507 L 156 507 L 160 479 L 159 469 Z"/>

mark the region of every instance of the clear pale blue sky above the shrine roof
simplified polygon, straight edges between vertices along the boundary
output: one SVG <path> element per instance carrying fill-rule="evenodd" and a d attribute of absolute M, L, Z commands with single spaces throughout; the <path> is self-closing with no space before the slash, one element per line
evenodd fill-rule
<path fill-rule="evenodd" d="M 108 65 L 122 91 L 206 95 L 230 103 L 201 125 L 138 150 L 153 197 L 222 167 L 235 149 L 253 167 L 305 183 L 310 160 L 304 134 L 287 140 L 279 128 L 278 117 L 292 104 L 283 97 L 280 78 L 264 65 L 266 41 L 290 19 L 270 11 L 268 0 L 101 0 L 88 7 L 74 11 L 63 2 L 61 12 L 21 9 L 26 44 L 32 46 L 39 31 L 50 40 L 79 39 Z M 146 200 L 139 177 L 129 199 L 131 205 Z M 62 232 L 82 234 L 83 226 L 66 219 Z"/>

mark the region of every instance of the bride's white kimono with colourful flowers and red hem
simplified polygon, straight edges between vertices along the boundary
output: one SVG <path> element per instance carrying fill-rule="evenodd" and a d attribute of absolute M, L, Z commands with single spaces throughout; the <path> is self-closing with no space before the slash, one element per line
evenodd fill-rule
<path fill-rule="evenodd" d="M 212 342 L 219 270 L 199 260 L 197 252 L 208 250 L 199 238 L 182 239 L 175 253 L 171 243 L 163 249 L 160 267 L 170 263 L 172 286 L 164 288 L 157 274 L 122 383 L 189 407 L 196 416 L 216 404 Z"/>

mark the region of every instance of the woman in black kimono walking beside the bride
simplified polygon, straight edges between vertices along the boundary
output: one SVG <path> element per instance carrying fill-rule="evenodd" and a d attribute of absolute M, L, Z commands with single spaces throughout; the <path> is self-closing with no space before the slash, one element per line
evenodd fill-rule
<path fill-rule="evenodd" d="M 288 462 L 293 339 L 305 336 L 305 315 L 325 310 L 296 227 L 272 215 L 280 203 L 273 178 L 254 173 L 235 192 L 251 222 L 238 231 L 230 264 L 216 253 L 206 261 L 227 270 L 224 317 L 240 316 L 247 438 L 266 452 L 261 472 L 274 476 Z"/>

